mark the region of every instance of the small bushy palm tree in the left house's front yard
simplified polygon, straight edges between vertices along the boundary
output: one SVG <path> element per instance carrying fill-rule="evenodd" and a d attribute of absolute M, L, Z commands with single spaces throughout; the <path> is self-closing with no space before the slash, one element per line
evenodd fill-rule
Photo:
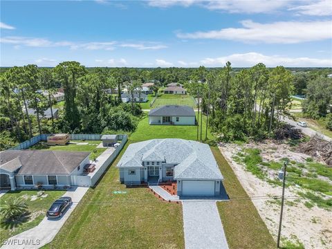
<path fill-rule="evenodd" d="M 15 220 L 26 213 L 28 205 L 26 201 L 18 197 L 16 199 L 9 199 L 5 201 L 0 207 L 0 214 L 3 216 L 6 221 Z"/>

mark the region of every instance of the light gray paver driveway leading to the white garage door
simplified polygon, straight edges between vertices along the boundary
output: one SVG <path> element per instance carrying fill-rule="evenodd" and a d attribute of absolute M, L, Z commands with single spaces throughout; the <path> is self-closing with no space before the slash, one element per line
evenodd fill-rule
<path fill-rule="evenodd" d="M 228 249 L 216 201 L 183 201 L 186 249 Z"/>

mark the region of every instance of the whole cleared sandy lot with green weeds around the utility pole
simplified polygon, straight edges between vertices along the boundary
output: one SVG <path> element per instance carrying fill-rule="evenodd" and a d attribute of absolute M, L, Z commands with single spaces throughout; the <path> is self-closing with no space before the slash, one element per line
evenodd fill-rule
<path fill-rule="evenodd" d="M 281 201 L 273 196 L 282 194 L 277 174 L 283 160 L 288 158 L 291 172 L 288 173 L 285 192 L 284 246 L 293 243 L 299 248 L 331 248 L 331 171 L 322 173 L 318 168 L 322 169 L 324 165 L 312 162 L 305 154 L 292 151 L 287 144 L 273 141 L 246 145 L 221 144 L 219 149 L 248 195 L 252 196 L 252 202 L 275 239 Z M 255 153 L 252 154 L 252 151 Z"/>

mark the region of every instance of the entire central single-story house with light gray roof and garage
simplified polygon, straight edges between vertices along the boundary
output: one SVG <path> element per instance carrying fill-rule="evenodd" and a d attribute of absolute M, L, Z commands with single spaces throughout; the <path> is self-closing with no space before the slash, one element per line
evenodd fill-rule
<path fill-rule="evenodd" d="M 209 145 L 178 138 L 136 142 L 118 165 L 126 185 L 176 181 L 178 196 L 218 196 L 223 175 Z"/>

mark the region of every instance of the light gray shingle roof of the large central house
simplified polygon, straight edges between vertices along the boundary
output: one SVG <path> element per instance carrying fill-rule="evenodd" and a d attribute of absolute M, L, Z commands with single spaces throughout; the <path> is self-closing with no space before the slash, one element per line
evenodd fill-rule
<path fill-rule="evenodd" d="M 223 180 L 209 145 L 178 138 L 153 139 L 129 145 L 117 167 L 143 167 L 142 161 L 173 163 L 175 179 Z"/>

